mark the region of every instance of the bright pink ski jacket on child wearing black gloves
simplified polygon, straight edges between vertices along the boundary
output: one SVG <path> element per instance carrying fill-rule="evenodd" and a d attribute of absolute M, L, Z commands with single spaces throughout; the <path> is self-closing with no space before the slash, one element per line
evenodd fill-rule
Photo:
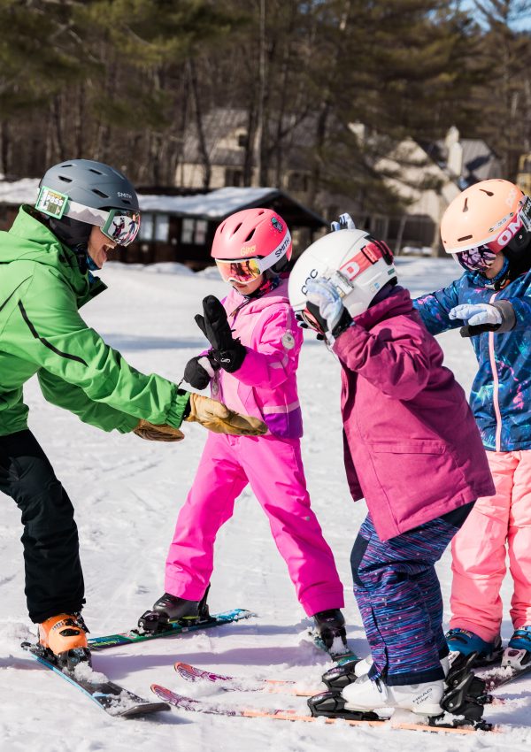
<path fill-rule="evenodd" d="M 303 334 L 289 306 L 288 281 L 249 303 L 232 289 L 223 305 L 247 355 L 236 372 L 216 372 L 212 396 L 233 410 L 261 418 L 275 436 L 300 438 L 303 419 L 296 367 Z"/>

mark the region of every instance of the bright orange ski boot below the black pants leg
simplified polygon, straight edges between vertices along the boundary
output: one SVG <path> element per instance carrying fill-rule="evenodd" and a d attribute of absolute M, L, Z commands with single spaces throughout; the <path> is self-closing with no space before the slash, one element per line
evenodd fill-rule
<path fill-rule="evenodd" d="M 88 632 L 81 614 L 58 614 L 39 625 L 39 645 L 52 663 L 72 669 L 82 661 L 90 664 Z"/>

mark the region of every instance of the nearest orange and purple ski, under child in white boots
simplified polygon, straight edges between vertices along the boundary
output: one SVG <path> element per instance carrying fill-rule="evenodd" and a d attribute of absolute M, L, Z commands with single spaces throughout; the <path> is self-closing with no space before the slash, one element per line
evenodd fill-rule
<path fill-rule="evenodd" d="M 158 696 L 158 698 L 178 710 L 186 710 L 193 713 L 207 713 L 217 716 L 226 717 L 246 717 L 246 718 L 270 718 L 272 720 L 283 721 L 302 721 L 304 723 L 312 723 L 320 719 L 321 723 L 324 721 L 326 724 L 334 724 L 337 720 L 341 720 L 342 723 L 348 725 L 368 725 L 368 726 L 381 726 L 384 728 L 396 728 L 410 731 L 423 731 L 423 732 L 444 732 L 444 733 L 476 733 L 477 728 L 470 725 L 428 725 L 427 723 L 393 723 L 389 719 L 377 718 L 374 713 L 365 714 L 366 717 L 353 718 L 339 718 L 339 717 L 325 717 L 325 716 L 311 716 L 298 713 L 296 710 L 259 710 L 242 707 L 229 707 L 227 705 L 216 704 L 212 702 L 204 702 L 203 700 L 196 700 L 192 697 L 186 697 L 183 694 L 177 694 L 167 687 L 161 687 L 159 684 L 152 684 L 151 691 Z M 359 714 L 360 716 L 364 714 Z"/>

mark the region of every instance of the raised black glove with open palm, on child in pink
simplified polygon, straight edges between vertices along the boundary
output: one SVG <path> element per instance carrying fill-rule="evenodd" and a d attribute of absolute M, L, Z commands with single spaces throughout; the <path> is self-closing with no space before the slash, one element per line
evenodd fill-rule
<path fill-rule="evenodd" d="M 203 314 L 196 315 L 196 325 L 211 343 L 212 356 L 221 368 L 234 373 L 242 365 L 247 350 L 240 340 L 233 338 L 227 311 L 215 295 L 207 295 L 203 300 Z"/>

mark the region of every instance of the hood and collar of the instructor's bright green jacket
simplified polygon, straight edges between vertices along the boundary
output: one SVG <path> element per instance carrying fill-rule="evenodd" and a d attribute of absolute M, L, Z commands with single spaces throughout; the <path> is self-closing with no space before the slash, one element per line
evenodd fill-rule
<path fill-rule="evenodd" d="M 28 205 L 20 207 L 10 230 L 0 232 L 0 264 L 13 261 L 53 267 L 73 288 L 80 305 L 106 287 L 101 280 L 81 272 L 73 250 L 63 245 Z"/>

